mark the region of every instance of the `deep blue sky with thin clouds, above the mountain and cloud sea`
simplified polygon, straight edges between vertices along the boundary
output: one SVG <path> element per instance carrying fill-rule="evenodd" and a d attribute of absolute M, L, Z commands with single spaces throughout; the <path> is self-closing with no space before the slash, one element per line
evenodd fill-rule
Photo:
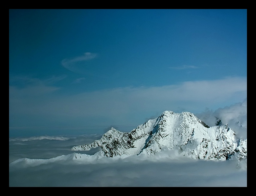
<path fill-rule="evenodd" d="M 245 100 L 246 9 L 9 10 L 9 137 L 131 131 Z"/>

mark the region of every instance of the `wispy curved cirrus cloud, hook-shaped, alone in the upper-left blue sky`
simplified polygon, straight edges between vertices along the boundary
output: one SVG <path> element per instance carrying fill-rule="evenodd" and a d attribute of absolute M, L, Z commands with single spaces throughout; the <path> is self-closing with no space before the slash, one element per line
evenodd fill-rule
<path fill-rule="evenodd" d="M 96 56 L 97 56 L 96 53 L 86 52 L 84 53 L 83 56 L 77 56 L 73 59 L 63 59 L 61 61 L 61 65 L 69 71 L 72 71 L 75 73 L 81 73 L 82 70 L 81 68 L 79 68 L 79 65 L 91 59 L 95 59 Z"/>

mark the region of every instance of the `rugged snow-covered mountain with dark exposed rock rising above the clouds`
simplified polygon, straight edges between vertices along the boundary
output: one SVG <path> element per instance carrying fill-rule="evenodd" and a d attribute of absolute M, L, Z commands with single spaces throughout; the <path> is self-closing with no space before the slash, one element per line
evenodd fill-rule
<path fill-rule="evenodd" d="M 72 150 L 100 147 L 97 157 L 118 157 L 146 154 L 152 156 L 164 150 L 178 149 L 180 154 L 212 160 L 247 158 L 247 139 L 236 138 L 229 126 L 209 127 L 193 113 L 164 111 L 129 133 L 111 128 L 93 143 L 74 146 Z"/>

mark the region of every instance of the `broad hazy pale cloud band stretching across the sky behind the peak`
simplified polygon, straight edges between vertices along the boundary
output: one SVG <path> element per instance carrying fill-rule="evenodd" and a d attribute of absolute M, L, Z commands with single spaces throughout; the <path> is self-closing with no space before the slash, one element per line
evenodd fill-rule
<path fill-rule="evenodd" d="M 24 88 L 10 86 L 9 116 L 14 116 L 10 118 L 10 127 L 49 123 L 54 126 L 56 120 L 58 126 L 137 126 L 150 116 L 157 117 L 164 110 L 176 113 L 201 113 L 206 108 L 217 110 L 247 98 L 247 79 L 229 77 L 168 86 L 105 89 L 75 95 L 58 95 L 57 90 L 57 87 L 46 84 Z M 228 116 L 222 117 L 223 121 L 225 118 Z M 41 121 L 41 124 L 36 124 L 36 121 Z"/>

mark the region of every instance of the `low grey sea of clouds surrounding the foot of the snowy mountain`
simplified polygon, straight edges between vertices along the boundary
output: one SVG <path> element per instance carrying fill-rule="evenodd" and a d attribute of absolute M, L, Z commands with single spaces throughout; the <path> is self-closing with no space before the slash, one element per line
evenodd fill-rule
<path fill-rule="evenodd" d="M 45 159 L 67 155 L 72 153 L 70 148 L 73 145 L 88 143 L 96 138 L 98 136 L 84 135 L 72 136 L 68 140 L 9 141 L 9 162 L 20 157 Z M 176 151 L 166 151 L 154 157 L 57 161 L 37 166 L 9 165 L 9 186 L 245 187 L 247 161 L 241 162 L 240 166 L 238 168 L 237 161 L 233 160 L 193 160 L 178 155 Z"/>

